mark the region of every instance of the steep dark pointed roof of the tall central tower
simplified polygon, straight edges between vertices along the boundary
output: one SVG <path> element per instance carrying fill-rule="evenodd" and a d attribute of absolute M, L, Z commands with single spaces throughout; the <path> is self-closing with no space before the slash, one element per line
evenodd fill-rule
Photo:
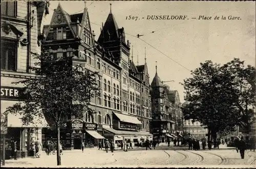
<path fill-rule="evenodd" d="M 98 42 L 103 43 L 104 40 L 116 40 L 118 38 L 118 26 L 114 15 L 110 12 L 104 23 L 103 29 L 99 35 Z"/>

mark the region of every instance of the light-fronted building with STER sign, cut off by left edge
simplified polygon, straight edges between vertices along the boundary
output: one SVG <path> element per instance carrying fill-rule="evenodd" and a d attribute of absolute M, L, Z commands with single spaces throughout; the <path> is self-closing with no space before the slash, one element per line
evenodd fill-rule
<path fill-rule="evenodd" d="M 23 92 L 22 84 L 12 82 L 33 78 L 29 66 L 36 61 L 30 52 L 41 52 L 40 44 L 44 39 L 42 25 L 49 14 L 49 5 L 46 1 L 1 2 L 1 153 L 2 134 L 7 131 L 6 158 L 11 156 L 11 143 L 14 140 L 17 141 L 18 158 L 35 151 L 34 142 L 37 138 L 41 139 L 41 129 L 45 127 L 39 124 L 23 125 L 20 116 L 9 114 L 5 117 L 3 113 L 9 106 L 25 99 L 19 95 Z"/>

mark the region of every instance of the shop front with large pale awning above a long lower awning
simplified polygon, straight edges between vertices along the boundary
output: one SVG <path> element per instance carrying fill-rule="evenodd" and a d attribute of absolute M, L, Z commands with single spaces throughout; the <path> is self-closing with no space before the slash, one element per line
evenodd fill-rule
<path fill-rule="evenodd" d="M 137 146 L 138 142 L 145 142 L 146 139 L 153 139 L 152 134 L 140 130 L 141 122 L 136 117 L 113 112 L 113 128 L 103 127 L 103 136 L 113 139 L 115 147 L 119 147 L 125 139 L 127 143 L 132 142 L 133 146 Z"/>

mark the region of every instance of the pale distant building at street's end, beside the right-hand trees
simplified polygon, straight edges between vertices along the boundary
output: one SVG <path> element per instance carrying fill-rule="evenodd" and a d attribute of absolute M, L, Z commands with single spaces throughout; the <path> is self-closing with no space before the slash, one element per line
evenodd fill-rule
<path fill-rule="evenodd" d="M 182 104 L 182 107 L 185 107 L 187 104 L 189 104 L 188 101 L 185 101 Z M 204 126 L 201 126 L 201 123 L 196 121 L 192 122 L 193 119 L 190 120 L 184 120 L 184 137 L 192 137 L 192 138 L 205 138 L 206 134 L 208 133 L 208 129 L 204 128 Z"/>

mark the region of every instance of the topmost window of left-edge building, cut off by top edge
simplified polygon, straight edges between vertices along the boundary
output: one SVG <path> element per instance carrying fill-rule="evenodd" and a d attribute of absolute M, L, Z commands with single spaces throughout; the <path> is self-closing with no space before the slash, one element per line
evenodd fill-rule
<path fill-rule="evenodd" d="M 16 17 L 17 3 L 16 2 L 1 2 L 1 14 Z"/>

